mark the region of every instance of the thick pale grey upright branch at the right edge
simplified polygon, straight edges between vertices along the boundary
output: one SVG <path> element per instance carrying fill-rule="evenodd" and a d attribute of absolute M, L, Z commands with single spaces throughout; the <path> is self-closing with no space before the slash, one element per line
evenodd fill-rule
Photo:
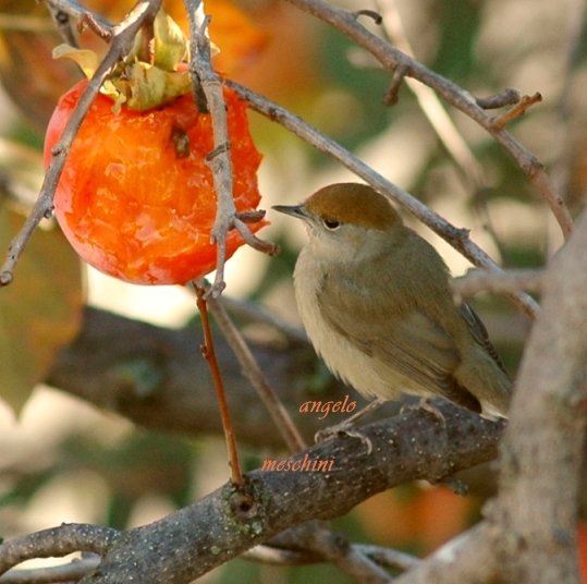
<path fill-rule="evenodd" d="M 587 214 L 547 268 L 522 362 L 491 520 L 510 582 L 579 582 L 576 528 L 587 423 Z"/>

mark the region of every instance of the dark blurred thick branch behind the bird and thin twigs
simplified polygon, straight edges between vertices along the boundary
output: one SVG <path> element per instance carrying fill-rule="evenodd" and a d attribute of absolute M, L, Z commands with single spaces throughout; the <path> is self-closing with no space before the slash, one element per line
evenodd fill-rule
<path fill-rule="evenodd" d="M 118 412 L 137 424 L 192 436 L 220 435 L 222 427 L 210 373 L 198 348 L 201 330 L 170 330 L 86 307 L 77 339 L 63 348 L 46 381 L 99 407 Z M 245 379 L 228 342 L 216 336 L 216 353 L 234 412 L 240 441 L 253 446 L 285 448 L 256 391 Z M 347 414 L 298 413 L 308 400 L 360 400 L 332 377 L 318 375 L 321 365 L 307 343 L 250 343 L 265 377 L 305 440 Z M 362 403 L 358 403 L 357 407 Z M 398 411 L 382 407 L 382 415 Z M 322 419 L 319 419 L 318 417 Z"/>

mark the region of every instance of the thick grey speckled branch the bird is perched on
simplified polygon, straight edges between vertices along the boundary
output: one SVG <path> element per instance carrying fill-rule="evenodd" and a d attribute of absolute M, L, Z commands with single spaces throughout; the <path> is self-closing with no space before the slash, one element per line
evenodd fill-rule
<path fill-rule="evenodd" d="M 451 404 L 442 421 L 415 410 L 363 428 L 372 454 L 355 438 L 315 446 L 292 459 L 333 461 L 328 472 L 255 471 L 245 491 L 225 485 L 168 518 L 123 534 L 110 546 L 91 584 L 182 584 L 273 535 L 314 519 L 347 513 L 381 490 L 416 478 L 438 480 L 492 460 L 503 424 Z M 30 537 L 34 537 L 30 536 Z M 3 560 L 0 546 L 0 561 Z M 2 565 L 8 568 L 5 560 Z"/>

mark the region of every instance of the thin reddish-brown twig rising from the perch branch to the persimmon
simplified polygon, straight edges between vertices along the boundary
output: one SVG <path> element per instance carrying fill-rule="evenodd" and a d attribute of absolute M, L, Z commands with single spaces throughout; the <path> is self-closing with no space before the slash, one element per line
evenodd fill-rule
<path fill-rule="evenodd" d="M 231 480 L 239 486 L 244 485 L 243 471 L 239 459 L 239 449 L 236 448 L 236 438 L 230 418 L 229 404 L 227 403 L 227 393 L 222 384 L 222 376 L 218 367 L 216 358 L 212 331 L 208 319 L 208 306 L 206 301 L 206 290 L 200 288 L 195 282 L 192 282 L 193 289 L 197 296 L 198 311 L 201 317 L 201 328 L 204 329 L 204 341 L 201 345 L 201 354 L 208 362 L 210 373 L 215 384 L 216 394 L 220 406 L 220 416 L 222 417 L 222 427 L 224 428 L 224 437 L 227 438 L 227 448 L 229 450 L 229 465 L 231 467 Z"/>

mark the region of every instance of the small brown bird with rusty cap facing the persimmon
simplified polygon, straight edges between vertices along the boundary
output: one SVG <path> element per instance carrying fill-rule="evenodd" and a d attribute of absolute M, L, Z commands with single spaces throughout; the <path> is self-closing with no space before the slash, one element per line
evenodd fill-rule
<path fill-rule="evenodd" d="M 273 209 L 306 227 L 296 301 L 334 375 L 379 401 L 441 396 L 507 416 L 512 381 L 485 326 L 467 304 L 454 304 L 444 261 L 383 195 L 332 184 L 302 205 Z"/>

